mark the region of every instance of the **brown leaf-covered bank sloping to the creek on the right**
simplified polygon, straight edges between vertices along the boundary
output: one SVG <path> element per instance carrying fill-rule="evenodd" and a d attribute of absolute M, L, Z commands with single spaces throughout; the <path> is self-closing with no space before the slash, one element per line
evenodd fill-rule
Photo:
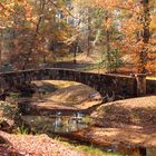
<path fill-rule="evenodd" d="M 77 134 L 95 144 L 129 144 L 156 148 L 156 96 L 104 104 L 91 114 L 94 124 Z"/>

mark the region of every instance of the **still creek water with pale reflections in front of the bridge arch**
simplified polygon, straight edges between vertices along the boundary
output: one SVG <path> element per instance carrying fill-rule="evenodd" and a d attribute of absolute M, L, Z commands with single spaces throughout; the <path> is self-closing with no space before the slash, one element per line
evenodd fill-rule
<path fill-rule="evenodd" d="M 47 116 L 22 116 L 23 121 L 29 123 L 35 131 L 41 133 L 71 133 L 88 127 L 81 113 L 64 116 L 60 111 L 56 115 Z"/>

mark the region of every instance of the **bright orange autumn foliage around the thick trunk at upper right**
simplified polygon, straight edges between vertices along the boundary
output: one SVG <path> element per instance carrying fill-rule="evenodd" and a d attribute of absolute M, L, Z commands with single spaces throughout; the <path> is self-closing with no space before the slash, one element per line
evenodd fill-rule
<path fill-rule="evenodd" d="M 155 71 L 155 41 L 149 39 L 149 31 L 155 29 L 155 16 L 152 11 L 149 12 L 149 9 L 153 9 L 153 2 L 149 3 L 146 0 L 137 2 L 134 0 L 95 0 L 92 3 L 95 8 L 101 7 L 109 12 L 115 12 L 108 25 L 114 25 L 116 22 L 119 22 L 118 30 L 123 37 L 120 40 L 111 42 L 113 46 L 120 47 L 124 53 L 129 53 L 129 57 L 133 57 L 138 72 Z M 152 25 L 150 21 L 153 21 Z"/>

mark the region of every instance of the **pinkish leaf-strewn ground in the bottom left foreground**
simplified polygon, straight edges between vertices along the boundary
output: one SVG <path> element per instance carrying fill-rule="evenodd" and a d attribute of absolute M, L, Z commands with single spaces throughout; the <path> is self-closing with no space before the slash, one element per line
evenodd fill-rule
<path fill-rule="evenodd" d="M 1 156 L 89 156 L 47 135 L 11 135 L 0 131 L 0 138 L 6 140 L 6 144 L 0 144 Z"/>

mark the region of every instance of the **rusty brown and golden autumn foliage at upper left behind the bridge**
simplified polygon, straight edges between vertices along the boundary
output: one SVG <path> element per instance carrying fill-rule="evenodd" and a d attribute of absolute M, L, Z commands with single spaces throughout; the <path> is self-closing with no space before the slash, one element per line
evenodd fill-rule
<path fill-rule="evenodd" d="M 57 53 L 66 53 L 64 41 L 70 37 L 71 29 L 65 19 L 56 17 L 64 1 L 8 0 L 0 6 L 1 52 L 7 53 L 7 60 L 9 58 L 16 68 L 36 67 L 53 60 Z M 58 42 L 62 42 L 60 48 Z"/>

